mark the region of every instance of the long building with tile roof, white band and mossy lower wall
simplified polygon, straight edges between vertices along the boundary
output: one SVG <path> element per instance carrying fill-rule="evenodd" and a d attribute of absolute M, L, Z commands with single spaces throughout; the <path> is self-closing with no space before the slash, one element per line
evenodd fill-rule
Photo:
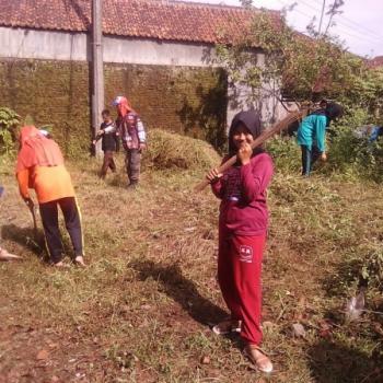
<path fill-rule="evenodd" d="M 36 114 L 34 109 L 46 103 L 44 94 L 48 96 L 54 92 L 50 100 L 67 100 L 65 103 L 71 105 L 66 106 L 66 112 L 58 104 L 48 115 L 57 116 L 55 124 L 62 124 L 65 119 L 65 124 L 69 124 L 67 114 L 73 109 L 80 113 L 74 101 L 83 100 L 82 108 L 88 111 L 86 115 L 81 115 L 81 129 L 85 129 L 90 95 L 74 96 L 73 92 L 83 83 L 82 92 L 89 93 L 85 83 L 89 81 L 86 65 L 92 59 L 91 3 L 90 0 L 0 0 L 0 105 L 13 106 L 20 114 Z M 204 117 L 206 113 L 211 114 L 211 119 L 220 115 L 217 124 L 221 126 L 230 123 L 239 109 L 249 107 L 246 102 L 248 91 L 244 88 L 233 91 L 228 88 L 228 79 L 217 74 L 214 45 L 246 33 L 257 12 L 186 1 L 103 0 L 106 97 L 116 92 L 128 94 L 134 105 L 142 111 L 148 125 L 171 126 L 172 130 L 205 138 L 198 134 L 198 126 L 210 121 L 210 117 Z M 270 11 L 270 14 L 278 22 L 279 13 Z M 262 62 L 262 49 L 255 48 L 255 54 Z M 62 86 L 54 84 L 55 77 L 43 74 L 49 72 L 49 66 L 59 67 L 63 72 L 70 70 L 69 83 L 62 79 Z M 20 68 L 18 74 L 16 68 Z M 73 80 L 73 73 L 80 71 L 73 68 L 84 71 L 81 81 Z M 113 76 L 109 74 L 112 70 Z M 112 85 L 111 77 L 119 80 L 114 80 Z M 221 79 L 220 83 L 212 78 Z M 33 98 L 38 105 L 31 106 L 31 98 L 18 105 L 15 95 L 24 96 L 19 93 L 19 84 L 34 81 L 42 88 L 38 97 Z M 227 93 L 222 96 L 222 92 L 208 91 L 207 84 L 213 86 L 212 83 L 216 88 L 225 86 Z M 65 90 L 69 93 L 63 93 Z M 217 94 L 222 97 L 219 102 Z M 213 103 L 214 107 L 204 107 L 202 103 Z M 225 108 L 224 116 L 214 109 L 218 106 Z M 270 92 L 265 95 L 262 107 L 265 120 L 278 118 L 278 102 Z M 161 114 L 155 112 L 159 108 Z M 44 124 L 49 123 L 47 116 L 39 118 Z M 214 143 L 216 138 L 210 141 Z"/>

